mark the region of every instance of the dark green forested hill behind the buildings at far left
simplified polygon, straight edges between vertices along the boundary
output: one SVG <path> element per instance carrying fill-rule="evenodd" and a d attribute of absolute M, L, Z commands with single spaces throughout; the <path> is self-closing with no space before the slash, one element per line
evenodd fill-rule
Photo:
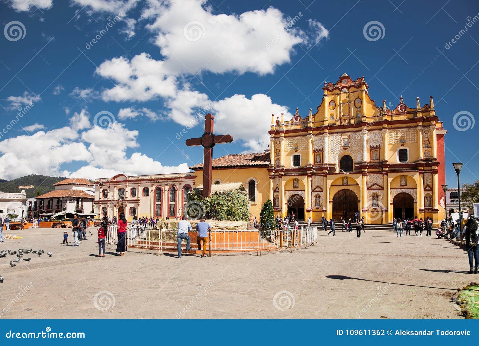
<path fill-rule="evenodd" d="M 53 184 L 58 181 L 67 179 L 65 177 L 49 177 L 39 174 L 32 174 L 17 179 L 5 180 L 0 179 L 0 191 L 3 192 L 22 192 L 25 190 L 27 198 L 36 197 L 36 191 L 40 190 L 40 194 L 44 194 L 55 190 Z M 29 188 L 33 186 L 33 188 Z"/>

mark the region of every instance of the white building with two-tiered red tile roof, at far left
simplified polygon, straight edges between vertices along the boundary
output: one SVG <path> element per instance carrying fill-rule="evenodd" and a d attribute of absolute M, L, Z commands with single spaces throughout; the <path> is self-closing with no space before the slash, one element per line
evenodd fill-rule
<path fill-rule="evenodd" d="M 88 179 L 72 178 L 59 181 L 55 190 L 36 198 L 36 205 L 29 205 L 29 217 L 35 217 L 42 212 L 93 212 L 94 187 Z M 34 215 L 32 215 L 32 213 Z"/>

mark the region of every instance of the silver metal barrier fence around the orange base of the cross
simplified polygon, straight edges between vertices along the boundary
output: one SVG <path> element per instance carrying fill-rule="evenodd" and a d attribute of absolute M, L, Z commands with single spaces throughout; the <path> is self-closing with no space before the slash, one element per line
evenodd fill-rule
<path fill-rule="evenodd" d="M 107 244 L 116 244 L 118 226 L 112 224 L 108 226 L 106 236 Z M 160 230 L 154 229 L 150 224 L 129 224 L 126 227 L 126 247 L 143 248 L 149 250 L 177 251 L 178 230 Z M 198 250 L 196 230 L 188 232 L 193 250 Z M 316 227 L 288 227 L 285 230 L 274 231 L 210 231 L 208 232 L 207 253 L 211 256 L 212 252 L 217 253 L 235 253 L 256 251 L 261 255 L 262 251 L 289 250 L 300 246 L 310 246 L 316 242 Z M 182 251 L 186 251 L 186 241 L 181 242 Z"/>

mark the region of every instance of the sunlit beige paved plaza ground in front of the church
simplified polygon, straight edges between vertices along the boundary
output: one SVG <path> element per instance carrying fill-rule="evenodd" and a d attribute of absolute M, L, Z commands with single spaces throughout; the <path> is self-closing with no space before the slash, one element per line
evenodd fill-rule
<path fill-rule="evenodd" d="M 0 259 L 1 318 L 461 318 L 450 299 L 476 278 L 456 246 L 392 230 L 319 231 L 292 253 L 181 259 L 119 257 L 114 246 L 98 258 L 88 232 L 79 247 L 61 245 L 61 229 L 14 233 L 23 239 L 0 250 L 53 256 L 27 254 L 13 268 L 15 256 Z"/>

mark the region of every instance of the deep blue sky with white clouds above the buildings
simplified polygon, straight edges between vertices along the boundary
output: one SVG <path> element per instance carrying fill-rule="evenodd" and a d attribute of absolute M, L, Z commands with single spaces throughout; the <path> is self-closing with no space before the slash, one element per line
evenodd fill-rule
<path fill-rule="evenodd" d="M 306 115 L 346 72 L 391 108 L 433 95 L 446 180 L 462 161 L 473 182 L 478 12 L 447 0 L 2 0 L 0 178 L 184 171 L 202 160 L 184 140 L 208 111 L 235 137 L 215 157 L 262 151 L 272 113 Z"/>

